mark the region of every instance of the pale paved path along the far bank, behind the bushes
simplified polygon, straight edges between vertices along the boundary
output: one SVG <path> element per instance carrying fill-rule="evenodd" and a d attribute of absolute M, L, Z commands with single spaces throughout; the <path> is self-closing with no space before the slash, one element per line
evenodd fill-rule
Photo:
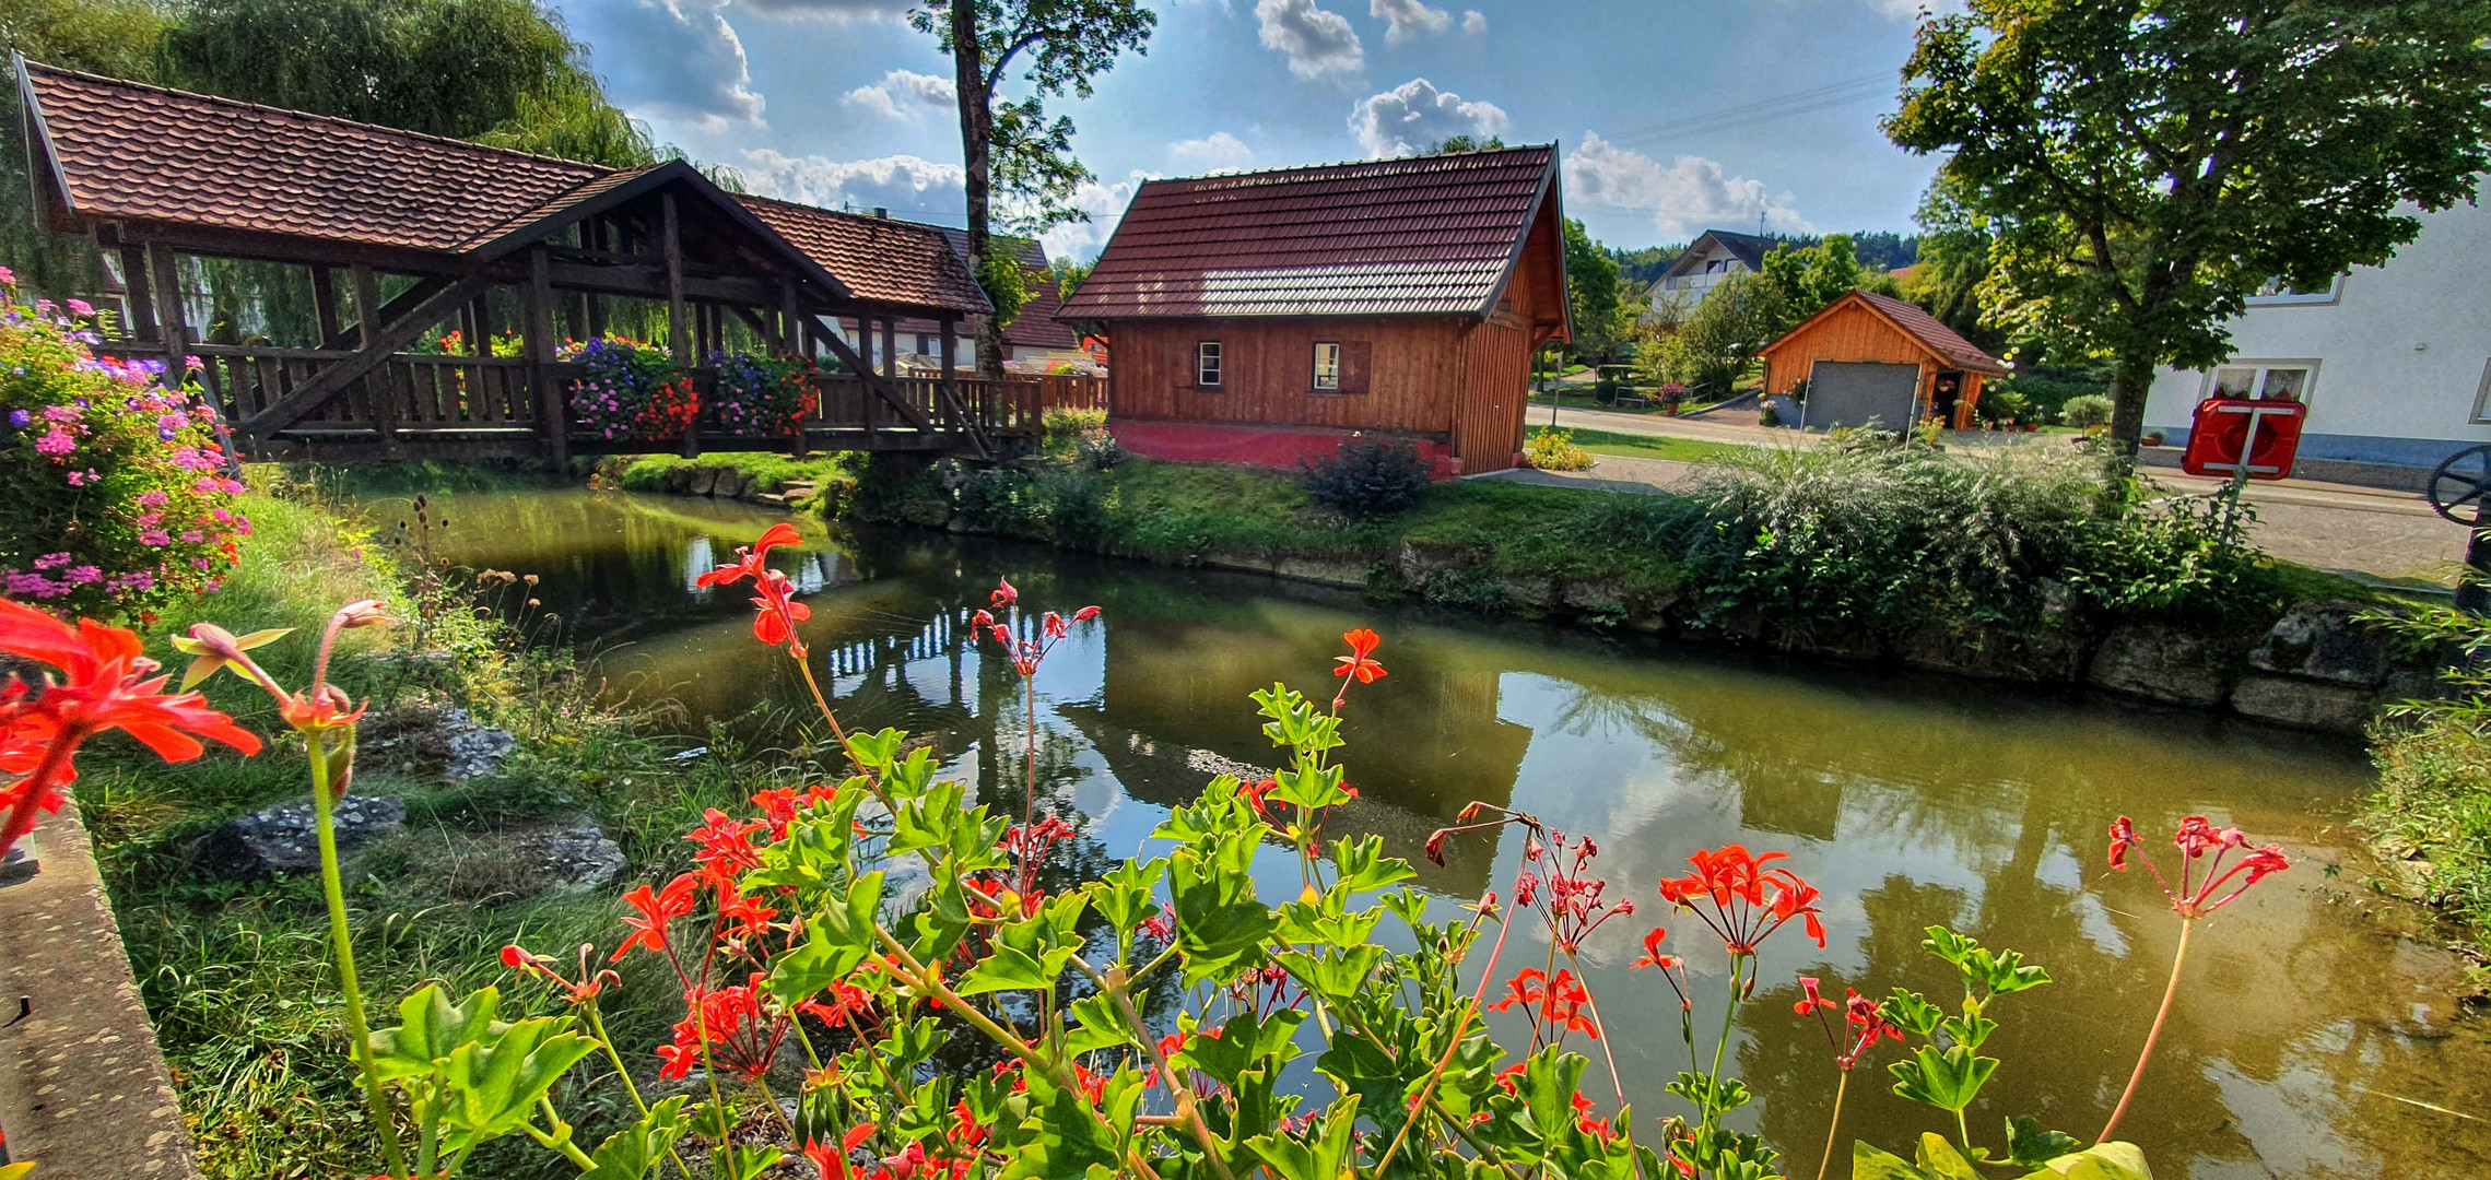
<path fill-rule="evenodd" d="M 1544 423 L 1547 413 L 1532 418 L 1532 426 Z M 1754 426 L 1754 418 L 1661 418 L 1607 411 L 1557 411 L 1557 426 L 1746 446 L 1816 446 L 1823 438 Z M 1948 433 L 1948 446 L 2068 446 L 2065 438 L 1960 431 Z M 1482 478 L 1657 493 L 1684 488 L 1694 473 L 1694 463 L 1599 456 L 1592 471 L 1500 471 Z M 2222 480 L 2177 471 L 2155 468 L 2150 475 L 2175 493 L 2197 495 L 2222 488 Z M 2257 508 L 2249 538 L 2282 560 L 2364 580 L 2456 585 L 2456 570 L 2466 553 L 2466 528 L 2441 520 L 2421 495 L 2347 483 L 2277 480 L 2252 483 L 2244 498 Z"/>

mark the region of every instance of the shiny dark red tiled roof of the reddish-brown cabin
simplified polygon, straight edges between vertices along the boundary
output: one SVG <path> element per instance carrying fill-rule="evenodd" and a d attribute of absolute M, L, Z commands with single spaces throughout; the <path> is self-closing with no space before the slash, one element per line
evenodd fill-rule
<path fill-rule="evenodd" d="M 1554 179 L 1552 147 L 1158 179 L 1076 319 L 1485 314 Z"/>

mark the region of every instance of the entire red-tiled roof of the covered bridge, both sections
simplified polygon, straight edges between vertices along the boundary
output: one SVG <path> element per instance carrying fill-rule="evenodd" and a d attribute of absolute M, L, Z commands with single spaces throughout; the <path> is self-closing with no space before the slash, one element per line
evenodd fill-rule
<path fill-rule="evenodd" d="M 25 87 L 87 219 L 466 254 L 673 167 L 605 169 L 35 62 Z M 707 192 L 740 202 L 857 299 L 986 311 L 939 229 Z"/>

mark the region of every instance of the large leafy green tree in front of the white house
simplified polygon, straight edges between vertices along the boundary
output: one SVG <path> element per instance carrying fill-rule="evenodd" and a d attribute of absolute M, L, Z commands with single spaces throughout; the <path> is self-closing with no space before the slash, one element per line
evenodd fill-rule
<path fill-rule="evenodd" d="M 1945 154 L 2015 334 L 2107 356 L 2132 456 L 2157 366 L 2229 354 L 2282 279 L 2334 281 L 2491 167 L 2491 5 L 1970 0 L 1928 17 L 1886 134 Z"/>

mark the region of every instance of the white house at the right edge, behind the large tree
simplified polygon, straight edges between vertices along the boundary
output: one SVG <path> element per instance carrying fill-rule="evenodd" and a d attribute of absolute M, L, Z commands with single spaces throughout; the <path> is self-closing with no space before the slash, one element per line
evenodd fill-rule
<path fill-rule="evenodd" d="M 2431 468 L 2491 443 L 2491 209 L 2421 217 L 2421 236 L 2386 266 L 2356 266 L 2324 291 L 2272 291 L 2232 321 L 2232 358 L 2165 368 L 2145 401 L 2147 433 L 2182 446 L 2197 401 L 2309 403 L 2302 458 Z"/>

